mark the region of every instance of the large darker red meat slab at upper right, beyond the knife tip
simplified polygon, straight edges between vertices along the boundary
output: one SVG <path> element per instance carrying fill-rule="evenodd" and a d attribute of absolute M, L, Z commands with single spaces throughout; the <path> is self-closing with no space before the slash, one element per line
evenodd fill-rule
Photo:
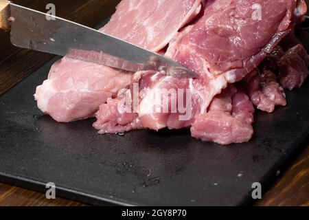
<path fill-rule="evenodd" d="M 253 5 L 261 19 L 253 19 Z M 296 1 L 216 0 L 204 16 L 168 50 L 168 56 L 199 74 L 241 80 L 290 31 Z"/>

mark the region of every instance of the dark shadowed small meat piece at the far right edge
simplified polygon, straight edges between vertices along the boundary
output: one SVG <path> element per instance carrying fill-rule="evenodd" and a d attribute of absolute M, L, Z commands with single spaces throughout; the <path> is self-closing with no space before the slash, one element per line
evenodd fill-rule
<path fill-rule="evenodd" d="M 309 75 L 309 56 L 301 44 L 290 48 L 280 58 L 278 65 L 280 70 L 279 80 L 284 89 L 292 90 L 301 87 Z"/>

